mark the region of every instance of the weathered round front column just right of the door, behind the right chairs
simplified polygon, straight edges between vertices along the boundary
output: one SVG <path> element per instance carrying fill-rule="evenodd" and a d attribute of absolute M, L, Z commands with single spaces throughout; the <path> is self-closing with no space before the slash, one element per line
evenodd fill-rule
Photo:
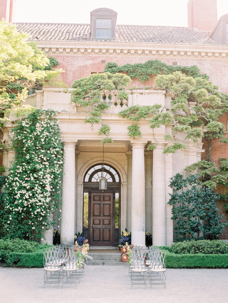
<path fill-rule="evenodd" d="M 144 143 L 132 142 L 131 242 L 145 246 Z"/>

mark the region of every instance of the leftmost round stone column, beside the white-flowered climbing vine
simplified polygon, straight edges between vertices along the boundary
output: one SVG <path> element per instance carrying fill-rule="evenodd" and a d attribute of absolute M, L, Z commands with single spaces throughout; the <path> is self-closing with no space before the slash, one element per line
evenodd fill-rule
<path fill-rule="evenodd" d="M 63 142 L 64 166 L 62 181 L 62 211 L 60 242 L 74 244 L 75 221 L 75 145 L 76 142 Z"/>

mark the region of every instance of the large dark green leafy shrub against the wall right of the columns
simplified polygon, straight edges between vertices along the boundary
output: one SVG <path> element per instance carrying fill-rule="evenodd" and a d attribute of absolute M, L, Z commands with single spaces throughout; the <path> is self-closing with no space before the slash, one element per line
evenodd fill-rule
<path fill-rule="evenodd" d="M 210 236 L 219 237 L 227 223 L 220 223 L 222 215 L 216 205 L 217 195 L 207 187 L 200 186 L 198 175 L 190 174 L 187 178 L 179 173 L 171 178 L 169 205 L 172 205 L 172 220 L 177 240 L 202 239 Z M 203 236 L 200 236 L 203 233 Z"/>

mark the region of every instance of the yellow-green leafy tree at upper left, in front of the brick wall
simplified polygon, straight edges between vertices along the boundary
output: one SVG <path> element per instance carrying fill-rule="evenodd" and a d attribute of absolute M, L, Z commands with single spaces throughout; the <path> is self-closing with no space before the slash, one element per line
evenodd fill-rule
<path fill-rule="evenodd" d="M 4 112 L 19 106 L 31 87 L 62 85 L 55 80 L 62 72 L 52 70 L 58 61 L 48 58 L 37 44 L 28 41 L 28 34 L 18 32 L 16 25 L 0 22 L 0 122 L 7 121 Z"/>

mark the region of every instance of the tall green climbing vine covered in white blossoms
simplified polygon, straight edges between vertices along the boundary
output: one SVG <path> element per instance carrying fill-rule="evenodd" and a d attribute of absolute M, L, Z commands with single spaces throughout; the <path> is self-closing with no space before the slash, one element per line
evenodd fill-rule
<path fill-rule="evenodd" d="M 63 148 L 54 116 L 54 112 L 37 110 L 18 122 L 13 132 L 15 161 L 8 172 L 3 203 L 5 232 L 15 238 L 41 238 L 60 208 Z"/>

